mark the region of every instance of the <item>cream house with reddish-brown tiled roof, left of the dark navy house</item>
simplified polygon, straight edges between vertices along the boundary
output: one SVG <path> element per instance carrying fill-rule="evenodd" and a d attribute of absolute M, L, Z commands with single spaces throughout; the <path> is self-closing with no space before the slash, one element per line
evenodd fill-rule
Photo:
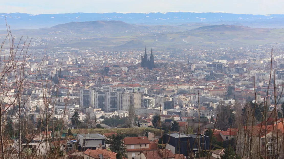
<path fill-rule="evenodd" d="M 150 141 L 146 136 L 125 137 L 123 139 L 128 158 L 138 159 L 141 151 L 150 151 Z M 139 157 L 140 158 L 140 157 Z"/>

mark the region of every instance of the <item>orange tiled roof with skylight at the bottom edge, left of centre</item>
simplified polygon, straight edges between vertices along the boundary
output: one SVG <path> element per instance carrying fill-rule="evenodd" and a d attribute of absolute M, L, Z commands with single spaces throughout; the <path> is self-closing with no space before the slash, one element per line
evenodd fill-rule
<path fill-rule="evenodd" d="M 84 151 L 84 159 L 116 159 L 116 154 L 106 149 L 87 149 Z"/>

